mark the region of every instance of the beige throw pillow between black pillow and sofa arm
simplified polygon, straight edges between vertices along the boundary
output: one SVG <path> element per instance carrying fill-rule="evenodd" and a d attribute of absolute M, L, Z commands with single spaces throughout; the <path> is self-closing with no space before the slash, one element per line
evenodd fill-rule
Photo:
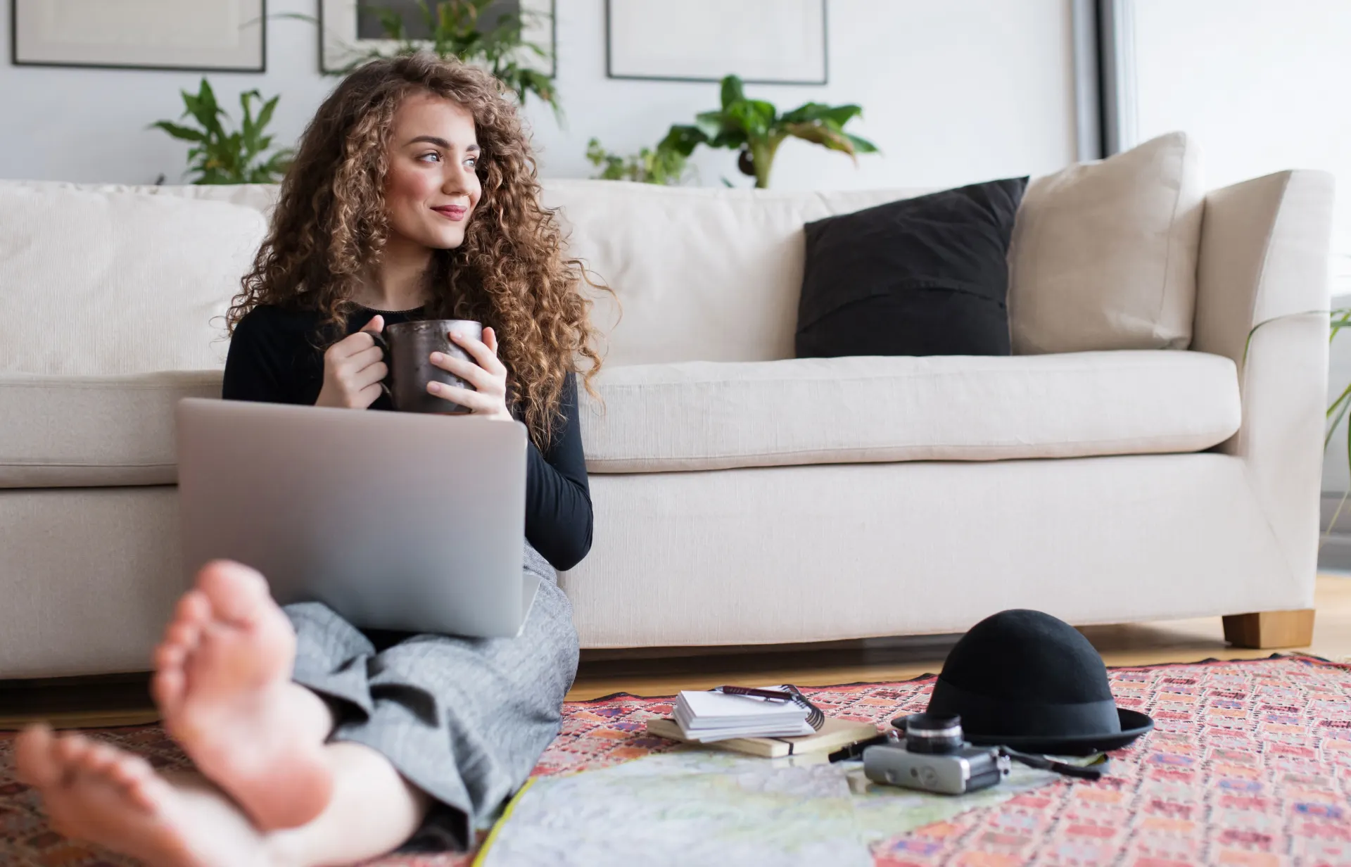
<path fill-rule="evenodd" d="M 1202 203 L 1183 132 L 1035 178 L 1009 247 L 1013 352 L 1185 350 Z"/>

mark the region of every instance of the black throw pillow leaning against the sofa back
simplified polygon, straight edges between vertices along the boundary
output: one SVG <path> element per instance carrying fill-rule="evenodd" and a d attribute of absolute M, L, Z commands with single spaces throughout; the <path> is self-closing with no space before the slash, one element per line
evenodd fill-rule
<path fill-rule="evenodd" d="M 797 357 L 1008 355 L 1025 189 L 988 181 L 808 223 Z"/>

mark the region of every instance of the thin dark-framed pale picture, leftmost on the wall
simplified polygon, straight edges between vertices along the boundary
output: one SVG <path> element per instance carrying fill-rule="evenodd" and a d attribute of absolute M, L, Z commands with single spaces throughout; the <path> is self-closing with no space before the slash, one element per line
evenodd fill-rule
<path fill-rule="evenodd" d="M 266 0 L 9 0 L 16 66 L 266 72 Z"/>

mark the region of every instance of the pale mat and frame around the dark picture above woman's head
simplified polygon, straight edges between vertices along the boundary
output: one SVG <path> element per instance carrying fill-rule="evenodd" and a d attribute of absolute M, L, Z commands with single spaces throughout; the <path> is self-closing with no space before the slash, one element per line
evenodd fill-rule
<path fill-rule="evenodd" d="M 434 3 L 435 0 L 428 0 Z M 401 3 L 381 3 L 381 0 L 319 0 L 319 70 L 336 73 L 353 59 L 370 50 L 392 54 L 399 42 L 393 39 L 363 38 L 359 34 L 359 5 L 409 5 Z M 501 12 L 519 9 L 527 20 L 521 28 L 526 42 L 540 45 L 549 50 L 549 61 L 523 51 L 520 62 L 543 72 L 550 78 L 558 74 L 558 27 L 555 24 L 555 0 L 496 0 L 488 7 L 489 20 L 496 20 Z M 354 50 L 357 49 L 357 50 Z"/>

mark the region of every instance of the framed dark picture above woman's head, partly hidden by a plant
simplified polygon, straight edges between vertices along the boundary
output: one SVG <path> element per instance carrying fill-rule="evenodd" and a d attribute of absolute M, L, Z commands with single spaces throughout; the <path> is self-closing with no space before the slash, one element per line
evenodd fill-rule
<path fill-rule="evenodd" d="M 436 0 L 427 0 L 427 5 L 435 12 Z M 373 50 L 393 54 L 399 42 L 386 38 L 382 14 L 397 15 L 409 39 L 430 39 L 427 19 L 416 0 L 319 0 L 319 68 L 334 73 Z M 554 0 L 492 0 L 478 15 L 476 28 L 492 31 L 504 15 L 520 15 L 521 41 L 542 47 L 547 54 L 539 57 L 523 50 L 520 65 L 550 77 L 558 74 Z"/>

